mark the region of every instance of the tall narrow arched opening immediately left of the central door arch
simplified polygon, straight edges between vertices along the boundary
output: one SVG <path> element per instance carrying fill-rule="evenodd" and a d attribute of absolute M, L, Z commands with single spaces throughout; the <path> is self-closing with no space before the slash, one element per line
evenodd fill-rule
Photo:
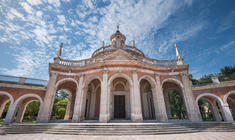
<path fill-rule="evenodd" d="M 98 120 L 100 115 L 101 82 L 93 79 L 86 87 L 85 120 Z"/>

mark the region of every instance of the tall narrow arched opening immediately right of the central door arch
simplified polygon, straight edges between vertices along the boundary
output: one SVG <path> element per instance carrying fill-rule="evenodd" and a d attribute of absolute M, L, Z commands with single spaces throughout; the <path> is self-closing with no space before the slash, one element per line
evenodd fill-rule
<path fill-rule="evenodd" d="M 148 80 L 142 79 L 140 81 L 140 96 L 143 119 L 153 120 L 155 119 L 155 109 L 153 101 L 152 86 Z"/>

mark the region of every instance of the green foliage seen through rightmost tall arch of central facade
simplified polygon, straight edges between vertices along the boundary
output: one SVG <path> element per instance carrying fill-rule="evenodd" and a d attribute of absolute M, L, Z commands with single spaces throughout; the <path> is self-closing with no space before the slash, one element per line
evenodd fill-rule
<path fill-rule="evenodd" d="M 170 90 L 168 97 L 172 116 L 171 119 L 186 119 L 187 113 L 180 92 L 177 90 Z"/>

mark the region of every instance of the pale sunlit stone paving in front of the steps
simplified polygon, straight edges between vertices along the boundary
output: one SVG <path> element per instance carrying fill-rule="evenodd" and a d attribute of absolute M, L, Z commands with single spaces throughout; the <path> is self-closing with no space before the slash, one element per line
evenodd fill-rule
<path fill-rule="evenodd" d="M 234 140 L 235 132 L 201 132 L 170 135 L 141 136 L 79 136 L 51 134 L 2 135 L 0 140 Z"/>

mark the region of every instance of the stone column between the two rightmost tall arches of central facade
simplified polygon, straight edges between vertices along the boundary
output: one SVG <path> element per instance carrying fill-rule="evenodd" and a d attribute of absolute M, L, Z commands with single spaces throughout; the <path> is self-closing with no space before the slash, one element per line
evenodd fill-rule
<path fill-rule="evenodd" d="M 153 87 L 155 116 L 158 121 L 166 122 L 168 119 L 167 119 L 162 86 L 160 82 L 160 76 L 155 75 L 155 79 L 156 79 L 156 87 Z"/>

